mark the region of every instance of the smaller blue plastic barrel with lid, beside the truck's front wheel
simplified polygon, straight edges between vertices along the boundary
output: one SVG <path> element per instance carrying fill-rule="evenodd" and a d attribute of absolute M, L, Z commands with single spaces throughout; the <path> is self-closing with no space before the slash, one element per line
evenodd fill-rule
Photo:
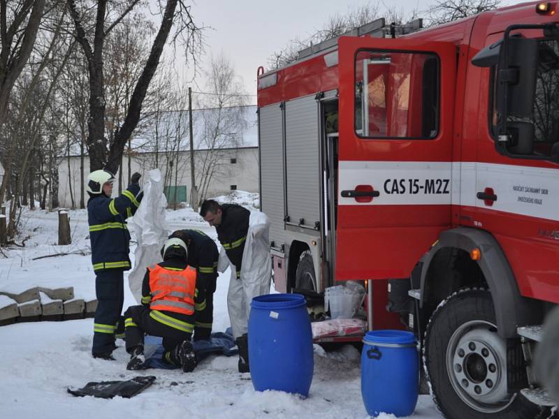
<path fill-rule="evenodd" d="M 419 360 L 414 334 L 375 330 L 363 339 L 361 396 L 370 416 L 414 413 L 419 390 Z"/>

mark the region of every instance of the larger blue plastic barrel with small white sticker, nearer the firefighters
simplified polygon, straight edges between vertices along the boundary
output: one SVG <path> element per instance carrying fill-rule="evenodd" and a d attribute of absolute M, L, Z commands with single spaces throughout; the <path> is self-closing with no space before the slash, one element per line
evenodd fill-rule
<path fill-rule="evenodd" d="M 254 390 L 280 390 L 307 397 L 314 359 L 305 297 L 254 297 L 249 316 L 249 364 Z"/>

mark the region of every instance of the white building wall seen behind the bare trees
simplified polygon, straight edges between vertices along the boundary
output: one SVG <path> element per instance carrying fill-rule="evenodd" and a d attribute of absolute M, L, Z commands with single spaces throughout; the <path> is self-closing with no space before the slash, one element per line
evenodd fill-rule
<path fill-rule="evenodd" d="M 201 168 L 197 165 L 201 162 L 205 153 L 205 150 L 196 150 L 194 152 L 195 162 L 194 167 L 198 173 Z M 210 182 L 208 187 L 208 193 L 204 198 L 212 198 L 214 196 L 219 196 L 224 193 L 231 191 L 231 185 L 235 185 L 236 189 L 240 191 L 248 192 L 258 192 L 259 191 L 259 166 L 258 166 L 258 147 L 247 147 L 239 149 L 226 149 L 220 150 L 220 159 L 217 164 L 217 172 Z M 231 163 L 231 159 L 236 159 L 236 163 Z M 140 172 L 145 175 L 146 172 L 159 167 L 161 173 L 165 176 L 169 176 L 171 170 L 169 161 L 173 160 L 173 174 L 170 179 L 170 185 L 175 186 L 175 154 L 169 153 L 159 153 L 156 156 L 154 153 L 141 153 L 136 154 L 131 158 L 131 172 Z M 122 188 L 126 188 L 126 182 L 128 179 L 128 158 L 124 156 L 123 161 L 123 172 L 122 172 Z M 214 166 L 215 167 L 215 166 Z M 0 169 L 1 170 L 1 169 Z M 177 172 L 177 186 L 187 186 L 187 196 L 190 198 L 190 155 L 189 152 L 180 152 L 178 159 L 178 172 Z M 1 172 L 0 172 L 1 173 Z M 72 193 L 74 198 L 75 206 L 78 207 L 80 204 L 80 156 L 70 157 L 70 176 L 68 176 L 68 159 L 64 157 L 59 165 L 59 204 L 61 207 L 71 207 L 72 200 L 70 194 L 70 185 L 72 187 Z M 84 177 L 89 175 L 89 158 L 86 157 L 84 163 Z M 117 174 L 117 179 L 119 175 Z M 199 176 L 196 175 L 199 179 Z M 168 177 L 167 177 L 168 179 Z M 166 184 L 169 184 L 167 181 Z M 198 185 L 198 188 L 200 186 Z M 118 191 L 118 182 L 115 183 L 113 191 Z M 89 197 L 85 196 L 85 203 L 87 204 L 87 199 Z"/>

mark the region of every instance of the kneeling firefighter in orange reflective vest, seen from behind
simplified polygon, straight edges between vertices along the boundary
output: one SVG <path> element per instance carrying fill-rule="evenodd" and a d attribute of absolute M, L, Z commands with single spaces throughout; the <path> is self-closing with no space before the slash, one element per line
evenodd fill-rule
<path fill-rule="evenodd" d="M 151 265 L 142 283 L 142 305 L 124 313 L 126 369 L 145 369 L 144 333 L 163 338 L 164 362 L 191 372 L 196 355 L 190 338 L 198 312 L 205 308 L 201 280 L 187 263 L 187 245 L 179 238 L 161 249 L 163 262 Z"/>

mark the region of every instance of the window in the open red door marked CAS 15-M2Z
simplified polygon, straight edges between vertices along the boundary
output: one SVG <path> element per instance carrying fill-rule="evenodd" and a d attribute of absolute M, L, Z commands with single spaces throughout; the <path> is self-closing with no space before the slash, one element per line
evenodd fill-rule
<path fill-rule="evenodd" d="M 358 135 L 371 139 L 437 136 L 440 64 L 436 54 L 361 50 L 355 72 Z"/>

